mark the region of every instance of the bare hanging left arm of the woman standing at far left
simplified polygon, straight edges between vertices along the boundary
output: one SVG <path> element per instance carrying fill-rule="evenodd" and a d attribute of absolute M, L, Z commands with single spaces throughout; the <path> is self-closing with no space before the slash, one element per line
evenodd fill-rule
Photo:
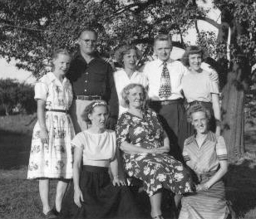
<path fill-rule="evenodd" d="M 40 126 L 40 138 L 42 140 L 42 144 L 49 143 L 45 108 L 46 108 L 46 101 L 38 99 L 37 100 L 37 119 Z"/>

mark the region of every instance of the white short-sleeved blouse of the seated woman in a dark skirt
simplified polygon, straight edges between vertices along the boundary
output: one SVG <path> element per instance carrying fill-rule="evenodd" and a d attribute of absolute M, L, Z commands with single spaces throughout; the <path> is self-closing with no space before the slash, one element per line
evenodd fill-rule
<path fill-rule="evenodd" d="M 71 144 L 77 148 L 82 148 L 83 163 L 90 161 L 110 161 L 116 154 L 116 133 L 106 129 L 104 133 L 93 134 L 84 130 L 72 139 Z"/>

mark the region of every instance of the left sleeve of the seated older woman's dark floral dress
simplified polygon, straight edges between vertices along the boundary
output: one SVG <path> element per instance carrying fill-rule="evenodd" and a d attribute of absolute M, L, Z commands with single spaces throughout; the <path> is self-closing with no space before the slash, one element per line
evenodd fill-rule
<path fill-rule="evenodd" d="M 129 129 L 130 129 L 130 122 L 129 122 L 128 115 L 121 114 L 121 117 L 118 119 L 116 124 L 116 144 L 117 147 L 121 147 L 123 142 L 130 142 L 129 139 Z"/>

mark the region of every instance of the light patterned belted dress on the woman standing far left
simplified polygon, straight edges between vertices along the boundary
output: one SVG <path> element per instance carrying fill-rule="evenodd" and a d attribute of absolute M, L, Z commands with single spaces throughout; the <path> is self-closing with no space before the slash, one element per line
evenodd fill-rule
<path fill-rule="evenodd" d="M 35 99 L 46 101 L 46 109 L 68 110 L 73 99 L 71 83 L 61 82 L 49 72 L 35 85 Z M 72 178 L 71 139 L 75 136 L 69 114 L 46 111 L 49 144 L 42 144 L 37 121 L 32 134 L 32 146 L 27 178 Z"/>

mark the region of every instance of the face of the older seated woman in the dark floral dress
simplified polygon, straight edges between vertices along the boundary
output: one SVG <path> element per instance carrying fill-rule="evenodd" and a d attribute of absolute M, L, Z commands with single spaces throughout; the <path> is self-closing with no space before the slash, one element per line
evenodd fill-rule
<path fill-rule="evenodd" d="M 135 86 L 130 89 L 127 99 L 129 101 L 129 108 L 140 109 L 145 99 L 142 88 L 140 86 Z"/>

